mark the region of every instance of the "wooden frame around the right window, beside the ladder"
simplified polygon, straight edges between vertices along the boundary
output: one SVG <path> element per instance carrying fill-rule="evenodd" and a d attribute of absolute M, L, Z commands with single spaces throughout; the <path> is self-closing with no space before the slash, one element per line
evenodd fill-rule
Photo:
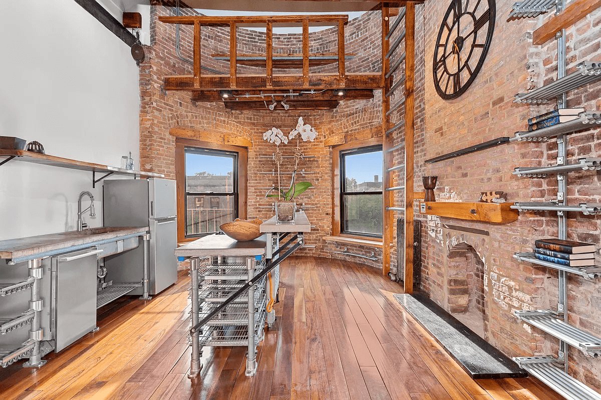
<path fill-rule="evenodd" d="M 382 145 L 382 137 L 373 137 L 371 139 L 358 140 L 357 142 L 344 143 L 344 145 L 332 146 L 332 236 L 340 237 L 353 237 L 356 239 L 382 239 L 381 237 L 348 234 L 341 233 L 342 221 L 340 216 L 342 215 L 340 209 L 340 182 L 341 182 L 341 168 L 340 168 L 340 153 L 347 150 L 364 148 L 369 146 Z M 383 190 L 382 190 L 383 193 Z M 383 215 L 383 214 L 382 214 Z"/>

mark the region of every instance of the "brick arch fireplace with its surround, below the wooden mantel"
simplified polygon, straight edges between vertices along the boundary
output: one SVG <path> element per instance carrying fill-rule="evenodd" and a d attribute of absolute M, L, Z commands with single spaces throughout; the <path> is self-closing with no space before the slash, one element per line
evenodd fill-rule
<path fill-rule="evenodd" d="M 487 231 L 443 226 L 447 247 L 443 308 L 481 338 L 489 336 L 490 236 Z"/>

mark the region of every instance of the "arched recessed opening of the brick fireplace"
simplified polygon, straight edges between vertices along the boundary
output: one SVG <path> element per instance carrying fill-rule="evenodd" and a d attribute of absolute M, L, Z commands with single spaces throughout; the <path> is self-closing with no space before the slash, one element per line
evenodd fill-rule
<path fill-rule="evenodd" d="M 448 311 L 478 336 L 487 339 L 484 263 L 474 248 L 457 243 L 448 253 Z"/>

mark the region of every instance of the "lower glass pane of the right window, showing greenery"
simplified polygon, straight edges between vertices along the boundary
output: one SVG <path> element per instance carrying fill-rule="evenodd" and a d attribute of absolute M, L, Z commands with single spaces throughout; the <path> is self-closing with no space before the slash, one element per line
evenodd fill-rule
<path fill-rule="evenodd" d="M 383 232 L 381 194 L 344 196 L 344 231 L 380 235 Z"/>

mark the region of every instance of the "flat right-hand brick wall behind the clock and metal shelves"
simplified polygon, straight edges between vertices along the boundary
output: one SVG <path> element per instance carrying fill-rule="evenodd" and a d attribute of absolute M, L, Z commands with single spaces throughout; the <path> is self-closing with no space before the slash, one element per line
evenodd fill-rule
<path fill-rule="evenodd" d="M 496 1 L 496 26 L 484 66 L 475 82 L 461 97 L 445 101 L 435 91 L 432 79 L 434 43 L 448 3 L 426 2 L 425 27 L 425 106 L 426 142 L 422 146 L 426 158 L 486 142 L 500 136 L 513 136 L 524 130 L 526 119 L 550 106 L 524 106 L 513 103 L 513 95 L 557 79 L 557 46 L 549 41 L 532 46 L 532 31 L 551 17 L 507 21 L 509 0 Z M 599 49 L 601 11 L 597 10 L 568 29 L 568 72 L 581 61 L 596 61 Z M 418 23 L 418 26 L 420 24 Z M 596 110 L 601 84 L 594 83 L 569 93 L 568 106 Z M 569 136 L 569 162 L 576 157 L 599 157 L 599 130 Z M 511 142 L 492 149 L 464 155 L 435 164 L 426 164 L 423 172 L 438 175 L 438 201 L 477 201 L 480 191 L 503 190 L 508 201 L 549 201 L 557 197 L 557 179 L 517 178 L 513 169 L 519 166 L 555 164 L 557 144 Z M 423 159 L 420 159 L 423 160 Z M 416 163 L 419 163 L 416 157 Z M 570 204 L 599 201 L 599 176 L 596 173 L 570 173 Z M 532 200 L 531 200 L 532 199 Z M 569 213 L 569 238 L 600 243 L 600 219 Z M 490 279 L 492 295 L 489 314 L 489 341 L 510 356 L 556 354 L 557 339 L 517 321 L 516 309 L 557 307 L 557 273 L 534 264 L 518 263 L 517 251 L 532 251 L 534 240 L 557 236 L 556 213 L 521 213 L 511 224 L 486 224 L 428 216 L 424 218 L 422 288 L 432 299 L 443 303 L 445 243 L 442 223 L 462 225 L 490 231 L 492 243 Z M 599 255 L 597 254 L 597 263 Z M 569 277 L 568 310 L 570 323 L 588 332 L 601 332 L 601 314 L 594 300 L 601 299 L 601 284 Z M 570 372 L 589 386 L 601 387 L 601 363 L 575 349 L 570 349 Z"/>

